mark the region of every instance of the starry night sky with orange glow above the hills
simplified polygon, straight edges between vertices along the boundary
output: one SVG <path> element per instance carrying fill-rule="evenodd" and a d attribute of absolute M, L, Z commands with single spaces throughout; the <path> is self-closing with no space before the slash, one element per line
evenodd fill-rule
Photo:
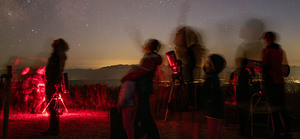
<path fill-rule="evenodd" d="M 0 65 L 45 64 L 57 38 L 70 46 L 67 69 L 137 64 L 145 40 L 160 40 L 164 55 L 174 49 L 176 27 L 188 25 L 230 66 L 240 27 L 256 18 L 280 35 L 289 64 L 300 66 L 299 9 L 299 0 L 1 0 Z"/>

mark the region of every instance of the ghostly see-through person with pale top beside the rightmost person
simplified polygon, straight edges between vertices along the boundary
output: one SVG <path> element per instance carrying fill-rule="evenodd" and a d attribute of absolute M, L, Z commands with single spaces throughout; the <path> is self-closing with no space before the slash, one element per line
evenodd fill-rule
<path fill-rule="evenodd" d="M 245 22 L 239 32 L 240 38 L 243 42 L 237 48 L 235 55 L 237 69 L 233 71 L 233 74 L 238 75 L 236 100 L 239 108 L 239 130 L 241 135 L 245 135 L 245 124 L 247 121 L 245 116 L 248 116 L 247 112 L 250 107 L 249 102 L 251 101 L 251 93 L 253 93 L 250 92 L 250 85 L 248 82 L 249 71 L 246 71 L 246 68 L 250 62 L 260 63 L 261 61 L 261 51 L 264 47 L 263 42 L 261 41 L 261 34 L 264 32 L 264 28 L 265 25 L 261 20 L 252 18 Z M 257 78 L 261 78 L 261 76 L 258 76 Z M 261 86 L 259 89 L 261 89 Z M 260 90 L 258 90 L 258 92 L 259 91 Z"/>

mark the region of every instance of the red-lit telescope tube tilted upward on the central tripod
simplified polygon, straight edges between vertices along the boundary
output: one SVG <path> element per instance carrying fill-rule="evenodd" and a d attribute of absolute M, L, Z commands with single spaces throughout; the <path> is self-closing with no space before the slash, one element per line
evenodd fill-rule
<path fill-rule="evenodd" d="M 180 79 L 182 74 L 182 63 L 176 58 L 174 51 L 169 51 L 166 53 L 169 65 L 173 70 L 172 79 Z"/>

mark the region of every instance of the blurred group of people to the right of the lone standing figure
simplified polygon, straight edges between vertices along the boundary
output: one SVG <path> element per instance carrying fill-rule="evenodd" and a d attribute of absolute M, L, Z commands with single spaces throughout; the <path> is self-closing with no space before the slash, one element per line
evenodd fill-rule
<path fill-rule="evenodd" d="M 251 101 L 250 85 L 252 78 L 259 78 L 262 85 L 259 90 L 268 98 L 271 107 L 272 120 L 274 123 L 274 137 L 289 137 L 288 112 L 285 106 L 284 77 L 287 76 L 284 66 L 288 66 L 284 50 L 275 43 L 276 33 L 264 32 L 264 25 L 256 19 L 249 20 L 241 30 L 241 37 L 245 39 L 236 54 L 237 70 L 234 74 L 238 78 L 236 88 L 236 104 L 239 107 L 239 130 L 242 136 L 246 135 L 249 105 Z M 244 31 L 244 32 L 243 32 Z M 252 32 L 251 32 L 252 31 Z M 203 112 L 207 117 L 208 137 L 217 139 L 222 137 L 222 120 L 225 117 L 225 103 L 220 87 L 218 74 L 225 68 L 226 60 L 220 54 L 210 54 L 205 58 L 206 51 L 202 44 L 201 36 L 190 27 L 180 27 L 174 37 L 175 52 L 182 62 L 181 80 L 187 83 L 188 105 L 193 105 L 196 96 L 193 96 L 192 89 L 189 89 L 195 79 L 200 78 L 200 67 L 205 72 L 205 81 L 202 84 L 201 92 L 204 99 Z M 157 40 L 149 40 L 145 48 L 157 48 Z M 152 43 L 151 43 L 152 42 Z M 159 138 L 157 127 L 150 113 L 149 96 L 152 93 L 155 69 L 161 63 L 161 57 L 157 54 L 159 49 L 145 51 L 138 68 L 127 73 L 122 82 L 133 81 L 136 83 L 137 103 L 132 106 L 120 105 L 123 114 L 123 126 L 128 138 L 140 138 L 146 135 L 150 138 Z M 150 57 L 151 58 L 147 58 Z M 206 59 L 206 62 L 204 62 Z M 255 61 L 259 67 L 251 67 L 249 63 Z M 146 64 L 149 63 L 149 64 Z M 204 64 L 203 64 L 204 63 Z M 151 65 L 151 66 L 150 66 Z M 255 68 L 255 69 L 254 69 Z M 259 68 L 260 70 L 257 70 Z M 258 72 L 258 73 L 255 73 Z M 258 75 L 257 75 L 258 74 Z M 258 77 L 257 77 L 258 76 Z M 144 80 L 148 80 L 145 82 Z M 123 84 L 124 85 L 124 84 Z M 125 87 L 126 85 L 124 85 Z M 129 89 L 130 90 L 130 89 Z M 129 91 L 130 92 L 130 91 Z M 127 93 L 122 91 L 121 93 Z M 131 92 L 132 93 L 132 92 Z M 128 98 L 128 102 L 134 101 L 134 93 Z M 124 101 L 124 100 L 123 100 Z M 128 112 L 130 114 L 128 114 Z M 124 116 L 125 115 L 125 116 Z M 130 115 L 130 118 L 127 117 Z M 141 118 L 145 118 L 142 120 Z"/>

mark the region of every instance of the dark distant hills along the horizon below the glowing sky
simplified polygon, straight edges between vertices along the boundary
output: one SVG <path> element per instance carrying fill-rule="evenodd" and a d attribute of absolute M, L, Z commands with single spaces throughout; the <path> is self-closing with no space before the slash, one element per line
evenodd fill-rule
<path fill-rule="evenodd" d="M 96 84 L 103 83 L 110 86 L 120 85 L 120 79 L 126 72 L 134 65 L 112 65 L 100 69 L 65 69 L 64 72 L 68 73 L 71 85 L 82 84 Z M 162 80 L 170 80 L 172 71 L 168 69 L 167 65 L 160 67 L 162 71 Z M 18 71 L 21 71 L 20 69 Z M 17 73 L 19 73 L 17 71 Z M 228 81 L 231 72 L 234 71 L 233 67 L 226 67 L 219 75 L 223 81 Z M 5 70 L 0 70 L 0 74 L 4 74 Z M 203 73 L 203 72 L 202 72 Z M 291 66 L 291 72 L 288 79 L 300 80 L 300 67 Z"/>

